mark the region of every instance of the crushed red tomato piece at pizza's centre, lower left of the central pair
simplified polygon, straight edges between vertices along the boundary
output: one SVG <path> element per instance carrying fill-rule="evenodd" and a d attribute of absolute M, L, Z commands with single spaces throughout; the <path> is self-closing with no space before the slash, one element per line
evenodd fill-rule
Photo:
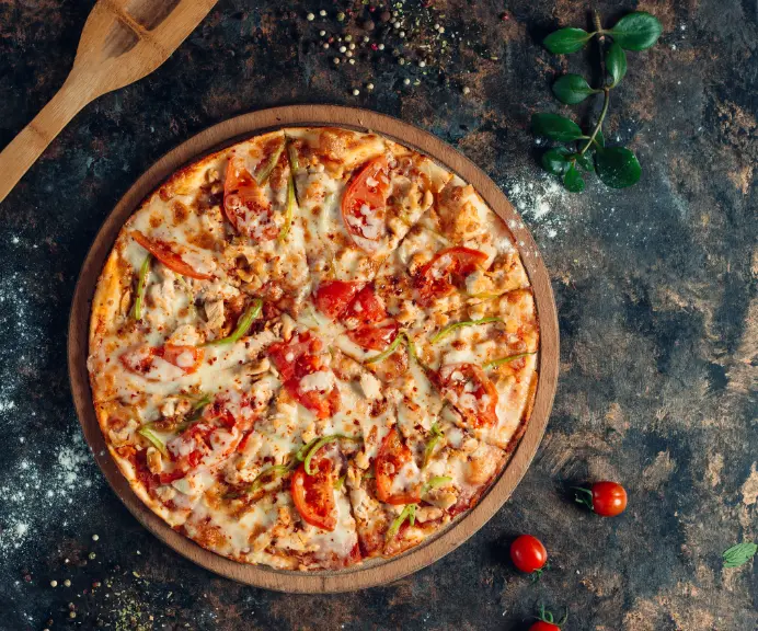
<path fill-rule="evenodd" d="M 328 391 L 320 389 L 303 390 L 301 380 L 314 372 L 332 374 L 321 356 L 321 341 L 310 333 L 300 333 L 287 343 L 272 344 L 268 356 L 282 375 L 284 387 L 303 408 L 315 414 L 317 418 L 328 418 L 340 410 L 340 390 L 332 385 Z"/>

